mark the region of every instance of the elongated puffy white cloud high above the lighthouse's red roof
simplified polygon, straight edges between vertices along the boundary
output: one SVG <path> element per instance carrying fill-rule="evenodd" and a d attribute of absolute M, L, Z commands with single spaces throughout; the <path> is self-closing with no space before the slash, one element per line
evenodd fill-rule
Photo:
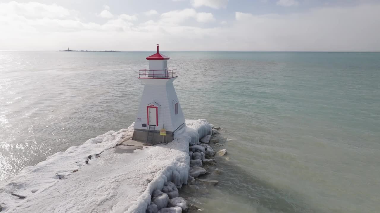
<path fill-rule="evenodd" d="M 185 22 L 188 19 L 195 19 L 197 22 L 211 22 L 215 18 L 212 13 L 197 13 L 195 9 L 173 10 L 161 14 L 161 23 L 174 24 Z"/>

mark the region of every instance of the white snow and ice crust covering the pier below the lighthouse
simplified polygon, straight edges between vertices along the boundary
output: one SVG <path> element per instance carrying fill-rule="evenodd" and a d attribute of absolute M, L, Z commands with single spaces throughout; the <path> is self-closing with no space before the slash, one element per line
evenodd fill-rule
<path fill-rule="evenodd" d="M 133 124 L 55 153 L 0 185 L 2 213 L 145 213 L 153 192 L 163 190 L 164 183 L 173 182 L 175 186 L 187 183 L 189 143 L 198 144 L 199 138 L 212 132 L 211 124 L 204 119 L 186 120 L 186 125 L 174 134 L 171 143 L 144 147 L 133 153 L 114 149 L 132 136 Z M 154 205 L 150 207 L 154 212 Z M 180 210 L 171 207 L 160 212 Z"/>

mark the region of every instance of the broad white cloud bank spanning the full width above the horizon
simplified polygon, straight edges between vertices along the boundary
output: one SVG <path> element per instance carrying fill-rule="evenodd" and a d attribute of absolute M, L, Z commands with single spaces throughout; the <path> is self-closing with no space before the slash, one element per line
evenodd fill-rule
<path fill-rule="evenodd" d="M 6 32 L 0 33 L 1 50 L 57 50 L 67 45 L 89 50 L 152 50 L 157 43 L 166 50 L 380 50 L 380 28 L 374 27 L 380 23 L 379 3 L 325 6 L 282 15 L 237 12 L 235 20 L 226 20 L 228 24 L 208 28 L 196 26 L 196 21 L 214 17 L 195 9 L 169 11 L 145 23 L 138 23 L 137 16 L 114 15 L 100 24 L 83 21 L 58 5 L 11 10 L 9 4 L 14 3 L 0 3 L 0 29 Z M 51 13 L 54 8 L 63 13 Z"/>

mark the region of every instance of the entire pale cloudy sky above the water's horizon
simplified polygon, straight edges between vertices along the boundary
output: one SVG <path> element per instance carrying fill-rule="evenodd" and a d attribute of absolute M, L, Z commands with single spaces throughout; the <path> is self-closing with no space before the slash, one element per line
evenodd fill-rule
<path fill-rule="evenodd" d="M 380 0 L 0 0 L 0 50 L 380 51 Z"/>

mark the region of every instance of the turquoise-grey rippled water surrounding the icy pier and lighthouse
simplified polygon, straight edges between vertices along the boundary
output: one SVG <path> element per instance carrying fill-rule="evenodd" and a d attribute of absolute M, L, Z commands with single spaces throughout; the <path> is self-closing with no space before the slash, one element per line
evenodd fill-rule
<path fill-rule="evenodd" d="M 185 118 L 223 127 L 206 212 L 376 212 L 380 53 L 163 52 Z M 0 180 L 135 119 L 150 52 L 0 52 Z"/>

